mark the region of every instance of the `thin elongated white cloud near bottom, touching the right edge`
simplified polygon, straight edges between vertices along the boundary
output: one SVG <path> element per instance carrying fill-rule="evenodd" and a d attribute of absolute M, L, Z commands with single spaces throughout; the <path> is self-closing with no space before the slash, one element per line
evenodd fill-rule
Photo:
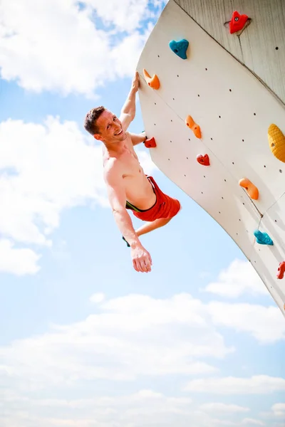
<path fill-rule="evenodd" d="M 214 394 L 272 394 L 285 391 L 285 379 L 268 375 L 193 379 L 187 383 L 185 390 Z"/>

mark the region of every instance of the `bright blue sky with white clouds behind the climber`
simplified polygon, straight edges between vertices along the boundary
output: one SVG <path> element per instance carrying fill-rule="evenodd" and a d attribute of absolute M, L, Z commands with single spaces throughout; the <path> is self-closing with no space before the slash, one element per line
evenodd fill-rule
<path fill-rule="evenodd" d="M 104 3 L 0 6 L 0 424 L 284 426 L 284 317 L 140 146 L 183 209 L 141 238 L 152 272 L 133 270 L 82 123 L 120 113 L 164 3 Z"/>

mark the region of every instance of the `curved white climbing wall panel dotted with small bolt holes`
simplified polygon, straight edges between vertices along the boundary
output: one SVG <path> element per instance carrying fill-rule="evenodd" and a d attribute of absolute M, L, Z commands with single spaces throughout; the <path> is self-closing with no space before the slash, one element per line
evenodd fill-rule
<path fill-rule="evenodd" d="M 182 39 L 186 59 L 183 43 L 181 51 L 175 44 Z M 284 314 L 285 278 L 276 275 L 285 260 L 285 163 L 268 139 L 271 124 L 285 133 L 283 103 L 172 0 L 138 71 L 145 131 L 157 144 L 153 162 L 229 233 Z M 282 144 L 272 141 L 272 149 Z M 257 243 L 257 231 L 273 245 Z"/>

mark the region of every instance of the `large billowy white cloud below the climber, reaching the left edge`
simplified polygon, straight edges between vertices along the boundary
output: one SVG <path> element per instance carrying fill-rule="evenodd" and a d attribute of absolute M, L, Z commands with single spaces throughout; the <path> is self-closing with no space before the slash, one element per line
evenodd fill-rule
<path fill-rule="evenodd" d="M 129 295 L 98 303 L 96 310 L 82 322 L 1 347 L 6 379 L 16 378 L 19 389 L 37 389 L 94 379 L 211 374 L 217 371 L 214 359 L 232 352 L 190 295 Z"/>

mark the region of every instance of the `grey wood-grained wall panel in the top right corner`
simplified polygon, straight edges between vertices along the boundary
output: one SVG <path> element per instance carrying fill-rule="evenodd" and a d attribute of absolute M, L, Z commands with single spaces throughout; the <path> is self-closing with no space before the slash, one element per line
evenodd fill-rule
<path fill-rule="evenodd" d="M 247 66 L 285 104 L 284 0 L 175 0 L 204 31 Z M 246 31 L 229 36 L 236 10 L 249 17 Z M 247 24 L 248 24 L 247 23 Z M 270 66 L 269 66 L 270 64 Z"/>

